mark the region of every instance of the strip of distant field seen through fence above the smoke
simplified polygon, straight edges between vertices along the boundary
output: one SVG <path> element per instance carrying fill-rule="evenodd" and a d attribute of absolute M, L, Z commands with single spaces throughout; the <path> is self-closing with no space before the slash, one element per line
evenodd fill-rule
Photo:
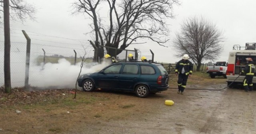
<path fill-rule="evenodd" d="M 54 56 L 46 56 L 45 57 L 45 63 L 48 63 L 48 62 L 58 63 L 58 60 L 62 59 L 62 58 L 68 60 L 72 65 L 74 65 L 74 63 L 75 63 L 75 58 L 74 57 L 54 57 Z M 76 63 L 81 62 L 81 61 L 82 61 L 81 58 L 76 58 Z M 44 57 L 43 56 L 38 56 L 36 58 L 35 62 L 36 62 L 37 65 L 40 65 L 40 63 L 44 62 Z M 84 62 L 86 62 L 86 63 L 92 62 L 92 59 L 85 59 Z"/>

